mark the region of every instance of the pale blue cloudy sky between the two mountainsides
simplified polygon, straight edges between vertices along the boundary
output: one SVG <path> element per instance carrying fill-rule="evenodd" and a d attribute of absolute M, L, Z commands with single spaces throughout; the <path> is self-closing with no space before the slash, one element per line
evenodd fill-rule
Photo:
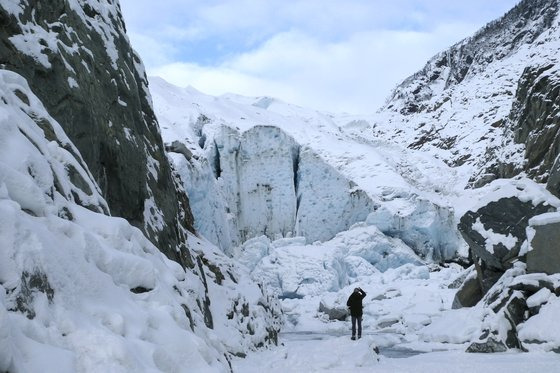
<path fill-rule="evenodd" d="M 121 0 L 149 75 L 364 114 L 518 0 Z"/>

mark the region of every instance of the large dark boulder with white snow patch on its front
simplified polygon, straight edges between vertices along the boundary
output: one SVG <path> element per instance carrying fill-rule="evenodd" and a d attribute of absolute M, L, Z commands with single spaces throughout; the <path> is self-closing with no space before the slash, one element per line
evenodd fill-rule
<path fill-rule="evenodd" d="M 476 291 L 472 283 L 465 284 L 464 293 L 461 292 L 458 296 L 465 297 L 463 301 L 469 304 L 476 304 L 518 257 L 521 244 L 527 239 L 526 228 L 529 219 L 550 209 L 549 205 L 543 203 L 535 206 L 531 201 L 524 202 L 517 197 L 508 197 L 463 215 L 458 229 L 469 245 L 469 253 L 477 270 L 480 292 Z M 491 241 L 490 237 L 484 237 L 483 233 L 487 232 L 491 232 L 489 234 L 494 240 L 496 237 L 500 237 L 500 240 L 496 242 Z M 515 240 L 514 244 L 512 240 Z M 491 244 L 487 245 L 487 241 Z M 480 297 L 476 299 L 475 295 Z M 459 302 L 463 304 L 462 301 Z"/>

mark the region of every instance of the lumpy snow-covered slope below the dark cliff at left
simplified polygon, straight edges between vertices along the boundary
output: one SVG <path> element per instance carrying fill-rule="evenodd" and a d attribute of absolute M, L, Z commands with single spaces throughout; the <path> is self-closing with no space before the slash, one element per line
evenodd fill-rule
<path fill-rule="evenodd" d="M 0 70 L 0 371 L 228 371 L 274 298 L 189 234 L 184 269 L 126 220 L 20 75 Z"/>

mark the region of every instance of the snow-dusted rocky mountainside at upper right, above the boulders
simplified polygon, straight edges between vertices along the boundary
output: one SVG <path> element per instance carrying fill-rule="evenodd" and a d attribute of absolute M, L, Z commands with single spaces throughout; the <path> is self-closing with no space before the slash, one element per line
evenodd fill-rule
<path fill-rule="evenodd" d="M 515 135 L 527 120 L 517 112 L 539 108 L 538 100 L 527 97 L 539 74 L 526 70 L 558 64 L 558 9 L 557 0 L 521 1 L 503 18 L 434 56 L 367 119 L 375 136 L 465 168 L 472 185 L 535 167 L 525 162 L 534 157 L 525 152 L 530 140 Z M 539 86 L 550 83 L 542 79 Z M 548 163 L 548 169 L 532 176 L 546 181 Z"/>

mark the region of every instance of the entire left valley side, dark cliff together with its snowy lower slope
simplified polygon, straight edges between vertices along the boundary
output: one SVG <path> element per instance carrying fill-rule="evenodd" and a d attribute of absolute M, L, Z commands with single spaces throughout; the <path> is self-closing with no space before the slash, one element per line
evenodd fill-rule
<path fill-rule="evenodd" d="M 223 372 L 277 343 L 277 299 L 189 231 L 118 3 L 0 22 L 0 371 Z"/>

